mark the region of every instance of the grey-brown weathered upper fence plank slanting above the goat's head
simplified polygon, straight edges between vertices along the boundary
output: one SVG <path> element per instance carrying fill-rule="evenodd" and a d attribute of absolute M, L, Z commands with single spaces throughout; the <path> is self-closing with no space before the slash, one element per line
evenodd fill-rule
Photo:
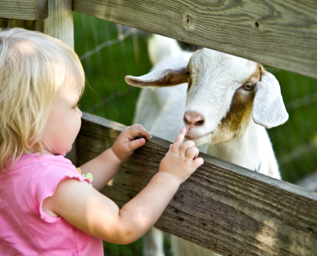
<path fill-rule="evenodd" d="M 317 78 L 315 0 L 74 0 L 74 11 Z"/>

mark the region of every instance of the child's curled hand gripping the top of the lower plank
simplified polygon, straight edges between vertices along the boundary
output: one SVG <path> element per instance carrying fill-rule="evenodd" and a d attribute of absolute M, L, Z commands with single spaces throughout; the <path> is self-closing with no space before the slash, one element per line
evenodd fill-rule
<path fill-rule="evenodd" d="M 134 150 L 145 144 L 145 139 L 137 139 L 139 135 L 150 140 L 152 136 L 144 129 L 141 124 L 135 123 L 126 129 L 119 135 L 115 143 L 112 145 L 111 150 L 122 162 L 127 161 L 133 154 Z"/>

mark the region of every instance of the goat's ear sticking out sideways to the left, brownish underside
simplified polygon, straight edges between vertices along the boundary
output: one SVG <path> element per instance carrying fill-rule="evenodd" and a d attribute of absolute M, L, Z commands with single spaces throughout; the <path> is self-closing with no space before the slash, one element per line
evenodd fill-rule
<path fill-rule="evenodd" d="M 135 77 L 126 76 L 125 80 L 131 86 L 137 87 L 166 87 L 188 81 L 186 68 L 188 61 L 180 62 L 162 69 L 154 70 L 146 75 Z"/>

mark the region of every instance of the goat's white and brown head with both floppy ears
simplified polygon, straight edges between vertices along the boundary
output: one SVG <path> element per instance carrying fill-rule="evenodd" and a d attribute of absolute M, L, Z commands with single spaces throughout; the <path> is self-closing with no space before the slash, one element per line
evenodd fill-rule
<path fill-rule="evenodd" d="M 288 119 L 277 79 L 254 61 L 210 49 L 196 51 L 189 62 L 126 76 L 138 87 L 166 87 L 188 82 L 183 127 L 196 146 L 224 143 L 242 135 L 254 120 L 267 128 Z"/>

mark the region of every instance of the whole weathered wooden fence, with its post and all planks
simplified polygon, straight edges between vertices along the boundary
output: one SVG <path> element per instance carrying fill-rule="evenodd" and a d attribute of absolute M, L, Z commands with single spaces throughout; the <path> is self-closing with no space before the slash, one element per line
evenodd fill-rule
<path fill-rule="evenodd" d="M 11 26 L 13 21 L 73 47 L 72 6 L 317 78 L 314 0 L 0 0 L 0 25 Z M 124 127 L 84 114 L 75 154 L 78 165 L 110 147 Z M 123 164 L 102 193 L 122 206 L 157 172 L 168 146 L 154 137 Z M 201 156 L 205 164 L 179 188 L 156 227 L 224 256 L 317 255 L 316 193 Z"/>

